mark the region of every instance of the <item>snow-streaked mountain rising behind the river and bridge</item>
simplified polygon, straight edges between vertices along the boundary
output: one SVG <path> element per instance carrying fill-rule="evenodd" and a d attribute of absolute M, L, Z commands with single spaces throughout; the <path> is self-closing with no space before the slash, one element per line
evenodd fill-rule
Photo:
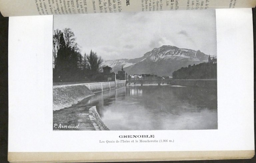
<path fill-rule="evenodd" d="M 112 67 L 118 72 L 123 66 L 128 74 L 156 74 L 158 76 L 172 76 L 172 72 L 187 67 L 189 64 L 208 62 L 208 55 L 200 50 L 178 48 L 163 45 L 146 52 L 142 57 L 135 59 L 106 60 L 103 65 Z"/>

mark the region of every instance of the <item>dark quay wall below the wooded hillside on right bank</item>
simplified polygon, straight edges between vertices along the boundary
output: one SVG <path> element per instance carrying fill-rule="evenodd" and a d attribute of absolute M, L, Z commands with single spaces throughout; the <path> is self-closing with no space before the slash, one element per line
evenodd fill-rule
<path fill-rule="evenodd" d="M 217 79 L 179 79 L 172 80 L 171 84 L 188 87 L 207 87 L 217 89 Z"/>

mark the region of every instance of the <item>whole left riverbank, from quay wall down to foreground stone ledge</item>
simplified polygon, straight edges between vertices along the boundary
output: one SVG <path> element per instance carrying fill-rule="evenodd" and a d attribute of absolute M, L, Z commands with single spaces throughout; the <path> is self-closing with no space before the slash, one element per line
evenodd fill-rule
<path fill-rule="evenodd" d="M 126 81 L 59 85 L 53 88 L 54 130 L 109 130 L 96 106 L 79 103 L 83 99 L 125 86 Z"/>

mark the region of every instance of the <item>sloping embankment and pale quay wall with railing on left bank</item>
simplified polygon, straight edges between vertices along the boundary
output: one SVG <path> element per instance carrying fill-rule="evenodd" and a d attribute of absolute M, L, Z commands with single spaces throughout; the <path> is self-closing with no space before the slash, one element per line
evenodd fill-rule
<path fill-rule="evenodd" d="M 125 86 L 126 81 L 63 84 L 53 86 L 53 110 L 60 110 L 77 104 L 79 101 L 96 92 Z"/>

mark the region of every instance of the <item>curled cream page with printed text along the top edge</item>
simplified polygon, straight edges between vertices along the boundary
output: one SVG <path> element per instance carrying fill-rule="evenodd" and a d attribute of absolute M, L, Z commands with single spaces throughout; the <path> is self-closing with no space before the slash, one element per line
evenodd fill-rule
<path fill-rule="evenodd" d="M 3 16 L 253 8 L 256 0 L 0 0 Z"/>

